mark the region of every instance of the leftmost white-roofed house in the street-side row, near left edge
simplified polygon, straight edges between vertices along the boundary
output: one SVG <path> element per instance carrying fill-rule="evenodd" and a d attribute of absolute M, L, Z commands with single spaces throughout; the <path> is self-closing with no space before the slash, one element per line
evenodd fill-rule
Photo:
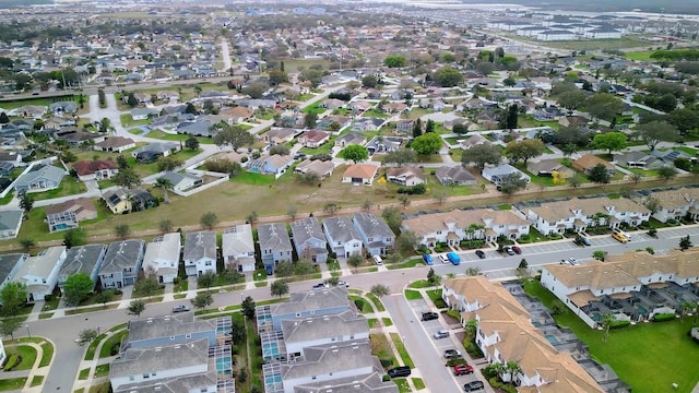
<path fill-rule="evenodd" d="M 27 258 L 13 281 L 26 285 L 27 301 L 44 300 L 46 295 L 54 293 L 64 261 L 66 246 L 50 247 Z"/>

